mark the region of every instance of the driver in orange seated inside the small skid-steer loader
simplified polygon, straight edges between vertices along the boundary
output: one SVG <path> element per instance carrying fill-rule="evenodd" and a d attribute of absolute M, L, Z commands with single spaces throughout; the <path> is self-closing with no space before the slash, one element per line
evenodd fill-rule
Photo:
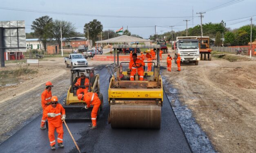
<path fill-rule="evenodd" d="M 85 85 L 87 87 L 79 87 L 78 90 L 76 90 L 76 95 L 84 93 L 86 94 L 89 89 L 89 79 L 85 78 L 84 73 L 80 73 L 80 78 L 77 79 L 75 86 Z"/>

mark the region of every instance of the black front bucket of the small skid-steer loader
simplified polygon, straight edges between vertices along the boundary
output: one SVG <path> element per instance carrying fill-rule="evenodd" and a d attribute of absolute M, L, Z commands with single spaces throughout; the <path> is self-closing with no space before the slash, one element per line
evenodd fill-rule
<path fill-rule="evenodd" d="M 91 120 L 91 110 L 85 109 L 85 105 L 63 105 L 66 112 L 65 120 Z"/>

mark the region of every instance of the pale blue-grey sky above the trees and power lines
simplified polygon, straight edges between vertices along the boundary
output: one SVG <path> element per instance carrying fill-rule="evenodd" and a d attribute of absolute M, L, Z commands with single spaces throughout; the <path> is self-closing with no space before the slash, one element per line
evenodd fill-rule
<path fill-rule="evenodd" d="M 250 24 L 250 16 L 256 24 L 255 6 L 256 0 L 0 0 L 0 21 L 24 20 L 26 33 L 30 33 L 36 18 L 49 15 L 72 22 L 83 33 L 83 26 L 97 19 L 103 31 L 128 26 L 131 34 L 147 39 L 155 34 L 155 26 L 161 35 L 171 31 L 169 26 L 174 26 L 173 31 L 185 30 L 183 20 L 190 20 L 188 28 L 200 24 L 199 12 L 205 12 L 203 24 L 223 20 L 234 29 Z"/>

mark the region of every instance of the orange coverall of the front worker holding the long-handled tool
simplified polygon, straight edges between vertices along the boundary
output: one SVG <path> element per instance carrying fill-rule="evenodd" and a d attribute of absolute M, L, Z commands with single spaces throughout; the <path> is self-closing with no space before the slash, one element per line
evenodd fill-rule
<path fill-rule="evenodd" d="M 48 117 L 47 113 L 55 113 L 55 117 Z M 43 116 L 47 117 L 48 120 L 48 137 L 50 140 L 50 145 L 53 146 L 55 144 L 55 137 L 54 131 L 58 133 L 57 142 L 63 142 L 63 127 L 62 127 L 62 120 L 60 115 L 65 114 L 65 109 L 62 107 L 61 104 L 57 103 L 56 107 L 52 107 L 51 105 L 47 106 L 44 110 Z"/>

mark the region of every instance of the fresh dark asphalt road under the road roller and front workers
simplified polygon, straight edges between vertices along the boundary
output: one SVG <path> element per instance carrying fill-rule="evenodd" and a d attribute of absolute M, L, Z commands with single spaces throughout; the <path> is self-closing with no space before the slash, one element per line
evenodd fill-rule
<path fill-rule="evenodd" d="M 68 122 L 81 152 L 86 153 L 190 153 L 191 149 L 184 133 L 176 119 L 170 103 L 164 96 L 161 117 L 161 129 L 112 129 L 107 123 L 109 105 L 107 102 L 107 90 L 109 87 L 109 74 L 105 68 L 98 69 L 100 74 L 100 92 L 104 98 L 104 108 L 97 120 L 98 128 L 90 130 L 86 122 Z M 69 84 L 69 78 L 63 77 L 62 81 L 53 83 L 58 87 L 63 83 Z M 32 92 L 33 93 L 33 92 Z M 27 94 L 32 94 L 27 93 Z M 65 93 L 60 99 L 65 97 Z M 18 99 L 17 99 L 18 100 Z M 61 149 L 57 145 L 55 151 L 51 151 L 47 131 L 39 129 L 41 115 L 29 122 L 22 129 L 0 145 L 2 153 L 77 153 L 75 145 L 69 133 L 64 128 L 64 145 Z M 57 138 L 57 136 L 56 136 Z"/>

